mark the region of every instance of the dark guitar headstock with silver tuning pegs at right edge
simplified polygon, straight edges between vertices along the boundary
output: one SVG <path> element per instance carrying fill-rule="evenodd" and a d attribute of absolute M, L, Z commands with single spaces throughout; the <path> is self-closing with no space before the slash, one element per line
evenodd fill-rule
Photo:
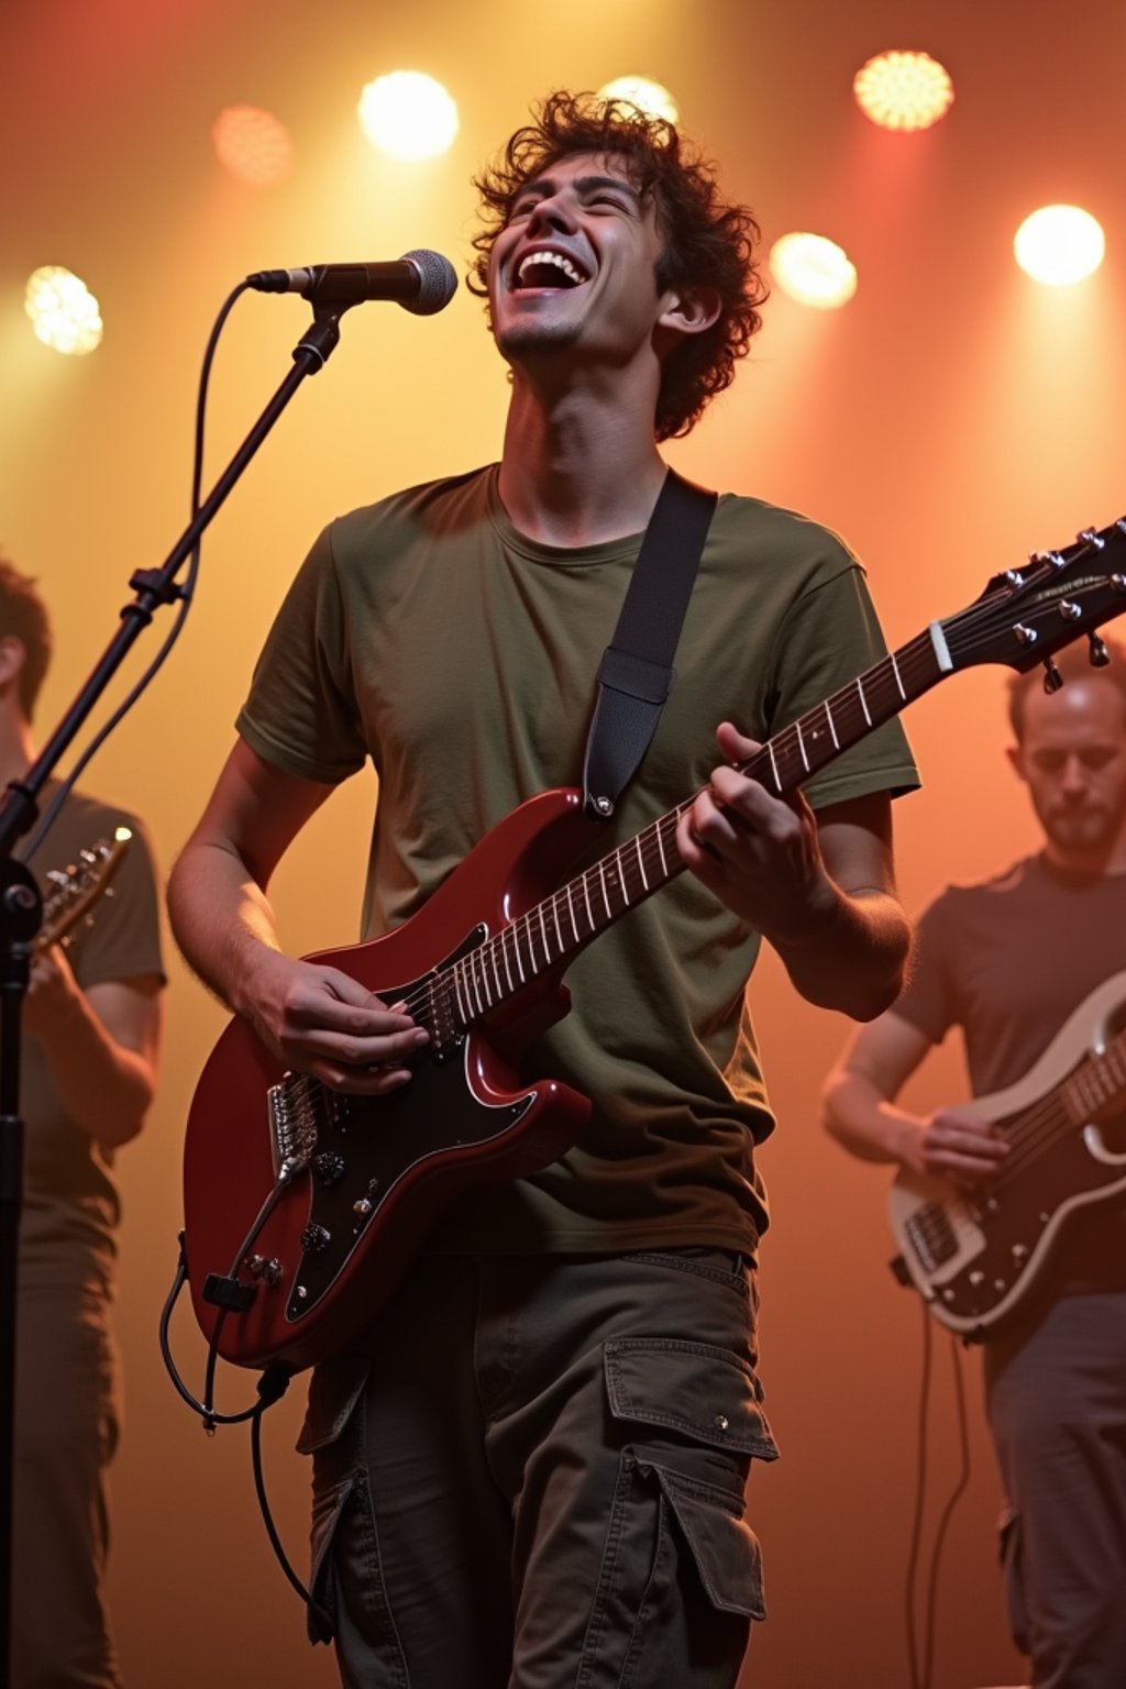
<path fill-rule="evenodd" d="M 1126 517 L 1084 529 L 1064 551 L 994 574 L 981 598 L 937 623 L 950 667 L 1001 662 L 1021 674 L 1126 611 Z M 1092 644 L 1092 657 L 1097 642 Z"/>

